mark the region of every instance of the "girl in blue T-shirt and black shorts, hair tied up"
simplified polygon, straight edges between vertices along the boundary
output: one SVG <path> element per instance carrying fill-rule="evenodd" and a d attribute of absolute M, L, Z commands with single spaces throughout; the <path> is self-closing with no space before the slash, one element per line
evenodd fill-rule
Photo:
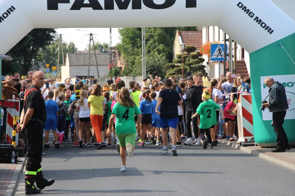
<path fill-rule="evenodd" d="M 143 101 L 139 103 L 139 110 L 142 113 L 142 119 L 141 119 L 141 131 L 140 131 L 140 144 L 139 146 L 144 146 L 144 139 L 145 139 L 145 132 L 148 130 L 148 141 L 146 144 L 150 144 L 150 136 L 153 136 L 152 134 L 152 100 L 150 99 L 148 91 L 144 91 L 142 93 L 142 97 L 144 98 Z M 153 143 L 155 144 L 156 141 L 153 139 Z"/>

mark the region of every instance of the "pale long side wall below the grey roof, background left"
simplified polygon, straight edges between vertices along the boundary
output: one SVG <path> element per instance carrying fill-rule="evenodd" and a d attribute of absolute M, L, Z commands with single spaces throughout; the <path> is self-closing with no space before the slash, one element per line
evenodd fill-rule
<path fill-rule="evenodd" d="M 107 75 L 109 73 L 109 67 L 108 67 L 108 65 L 99 65 L 98 71 L 99 71 L 100 78 L 104 78 L 104 75 Z M 88 75 L 88 66 L 87 65 L 86 66 L 85 65 L 70 66 L 69 75 L 74 78 L 76 78 L 76 75 L 87 76 Z M 90 66 L 90 75 L 94 75 L 96 78 L 98 78 L 95 65 Z M 68 77 L 70 77 L 70 76 L 68 76 Z"/>

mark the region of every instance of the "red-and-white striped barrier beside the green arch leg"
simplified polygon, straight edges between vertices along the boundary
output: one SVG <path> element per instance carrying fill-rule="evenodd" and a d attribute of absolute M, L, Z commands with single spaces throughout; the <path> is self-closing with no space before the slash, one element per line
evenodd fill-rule
<path fill-rule="evenodd" d="M 252 95 L 251 94 L 241 94 L 241 121 L 242 121 L 242 131 L 241 136 L 239 135 L 239 141 L 247 141 L 254 138 L 253 129 L 253 115 L 252 115 Z M 245 138 L 245 140 L 243 139 Z"/>

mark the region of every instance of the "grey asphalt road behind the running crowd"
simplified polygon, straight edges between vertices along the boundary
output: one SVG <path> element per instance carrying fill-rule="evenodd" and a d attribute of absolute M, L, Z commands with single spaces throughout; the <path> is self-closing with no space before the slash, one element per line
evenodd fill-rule
<path fill-rule="evenodd" d="M 52 135 L 50 135 L 52 137 Z M 96 150 L 66 147 L 50 149 L 42 157 L 44 177 L 55 183 L 42 196 L 93 195 L 294 195 L 295 172 L 238 149 L 218 145 L 177 148 L 178 156 L 160 154 L 162 146 L 137 146 L 121 172 L 115 145 Z M 24 195 L 23 178 L 15 195 Z"/>

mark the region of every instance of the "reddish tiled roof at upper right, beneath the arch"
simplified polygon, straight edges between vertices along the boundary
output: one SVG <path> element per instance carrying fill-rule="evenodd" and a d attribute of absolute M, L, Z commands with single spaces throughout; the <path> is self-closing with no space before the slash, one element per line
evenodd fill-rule
<path fill-rule="evenodd" d="M 192 45 L 200 50 L 203 44 L 202 31 L 179 31 L 182 42 L 186 45 Z"/>

